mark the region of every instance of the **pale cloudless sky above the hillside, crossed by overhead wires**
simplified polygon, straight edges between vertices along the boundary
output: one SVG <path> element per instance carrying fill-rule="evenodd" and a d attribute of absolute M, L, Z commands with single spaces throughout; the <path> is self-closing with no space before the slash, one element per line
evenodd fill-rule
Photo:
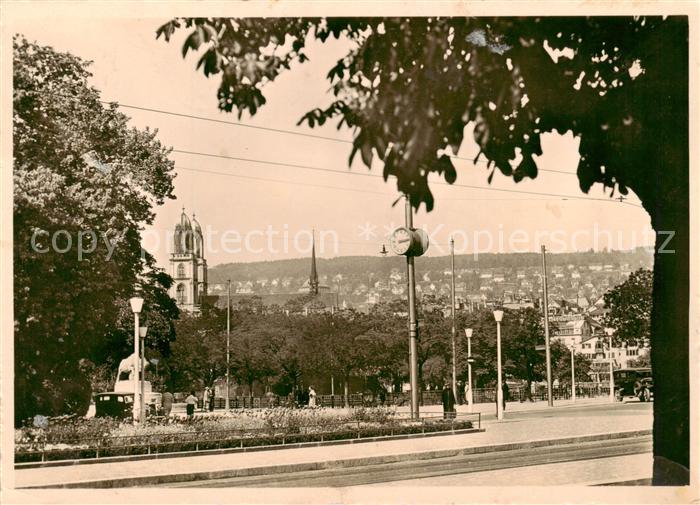
<path fill-rule="evenodd" d="M 104 100 L 239 122 L 236 114 L 217 108 L 218 78 L 207 79 L 195 70 L 196 54 L 183 59 L 184 31 L 170 43 L 156 40 L 156 29 L 167 20 L 92 17 L 86 23 L 34 15 L 13 20 L 12 31 L 92 60 L 91 84 Z M 144 230 L 144 247 L 160 266 L 167 267 L 172 230 L 183 207 L 202 225 L 210 266 L 306 257 L 312 230 L 320 257 L 378 255 L 382 244 L 388 247 L 387 233 L 404 221 L 395 180 L 384 182 L 380 166 L 368 171 L 356 161 L 348 169 L 351 131 L 337 131 L 334 124 L 296 126 L 305 112 L 332 101 L 325 75 L 348 45 L 329 40 L 308 46 L 309 62 L 265 87 L 268 103 L 254 117 L 241 118 L 246 126 L 122 109 L 134 127 L 158 129 L 164 145 L 206 154 L 171 155 L 176 199 L 157 208 L 153 225 Z M 602 185 L 588 196 L 580 191 L 578 139 L 571 133 L 548 134 L 542 148 L 535 180 L 516 184 L 497 173 L 489 186 L 486 165 L 465 160 L 455 160 L 462 187 L 431 177 L 435 208 L 430 213 L 421 208 L 414 217 L 415 226 L 430 236 L 427 254 L 448 254 L 450 237 L 458 254 L 539 251 L 542 244 L 552 252 L 653 244 L 649 217 L 635 195 L 621 203 L 610 201 Z M 477 153 L 472 136 L 466 135 L 458 156 L 474 158 Z"/>

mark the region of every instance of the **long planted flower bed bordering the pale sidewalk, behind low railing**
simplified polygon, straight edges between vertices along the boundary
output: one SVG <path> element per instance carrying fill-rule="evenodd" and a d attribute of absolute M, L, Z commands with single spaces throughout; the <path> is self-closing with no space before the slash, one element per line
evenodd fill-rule
<path fill-rule="evenodd" d="M 108 418 L 73 418 L 16 430 L 15 462 L 247 449 L 469 428 L 472 423 L 466 419 L 413 421 L 388 408 L 278 407 L 191 420 L 149 419 L 139 426 Z"/>

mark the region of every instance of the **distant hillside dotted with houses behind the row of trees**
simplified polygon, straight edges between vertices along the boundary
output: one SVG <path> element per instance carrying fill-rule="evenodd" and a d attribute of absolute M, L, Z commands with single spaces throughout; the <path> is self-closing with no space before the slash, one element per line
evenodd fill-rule
<path fill-rule="evenodd" d="M 537 304 L 542 293 L 541 256 L 524 254 L 458 255 L 455 257 L 455 291 L 460 308 L 501 300 L 514 308 Z M 333 293 L 340 306 L 366 310 L 368 305 L 406 296 L 406 266 L 400 257 L 352 256 L 318 258 L 322 291 Z M 623 282 L 639 268 L 651 268 L 652 255 L 643 248 L 548 254 L 550 300 L 585 309 L 610 287 Z M 419 297 L 449 297 L 450 257 L 416 260 L 416 292 Z M 286 299 L 309 291 L 310 259 L 228 263 L 209 269 L 209 294 L 231 292 L 236 297 L 261 296 Z"/>

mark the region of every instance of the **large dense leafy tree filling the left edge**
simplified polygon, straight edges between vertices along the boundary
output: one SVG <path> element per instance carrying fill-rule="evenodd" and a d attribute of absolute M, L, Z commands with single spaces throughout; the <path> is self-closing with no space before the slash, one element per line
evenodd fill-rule
<path fill-rule="evenodd" d="M 105 359 L 117 307 L 138 280 L 166 319 L 177 308 L 162 298 L 167 276 L 140 246 L 153 207 L 172 197 L 168 149 L 156 132 L 130 128 L 116 105 L 103 106 L 87 62 L 20 36 L 13 57 L 18 421 L 87 408 L 81 363 Z M 151 310 L 153 335 L 167 342 L 169 322 L 155 330 Z"/>

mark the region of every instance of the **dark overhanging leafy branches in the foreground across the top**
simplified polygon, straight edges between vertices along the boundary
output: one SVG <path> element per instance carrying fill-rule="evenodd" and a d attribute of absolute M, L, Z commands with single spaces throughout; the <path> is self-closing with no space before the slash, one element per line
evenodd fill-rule
<path fill-rule="evenodd" d="M 378 157 L 384 177 L 428 210 L 428 174 L 456 180 L 450 153 L 470 123 L 488 167 L 516 181 L 537 175 L 541 134 L 571 130 L 581 137 L 583 191 L 601 182 L 651 197 L 643 163 L 632 160 L 645 160 L 659 120 L 682 120 L 645 106 L 683 99 L 686 83 L 669 78 L 682 71 L 678 51 L 658 58 L 687 44 L 682 18 L 178 18 L 157 35 L 169 40 L 182 27 L 183 56 L 202 50 L 197 67 L 221 75 L 219 108 L 239 116 L 255 114 L 265 84 L 308 60 L 310 38 L 348 39 L 352 49 L 327 75 L 333 102 L 301 121 L 355 129 L 350 160 L 359 152 L 370 167 Z"/>

